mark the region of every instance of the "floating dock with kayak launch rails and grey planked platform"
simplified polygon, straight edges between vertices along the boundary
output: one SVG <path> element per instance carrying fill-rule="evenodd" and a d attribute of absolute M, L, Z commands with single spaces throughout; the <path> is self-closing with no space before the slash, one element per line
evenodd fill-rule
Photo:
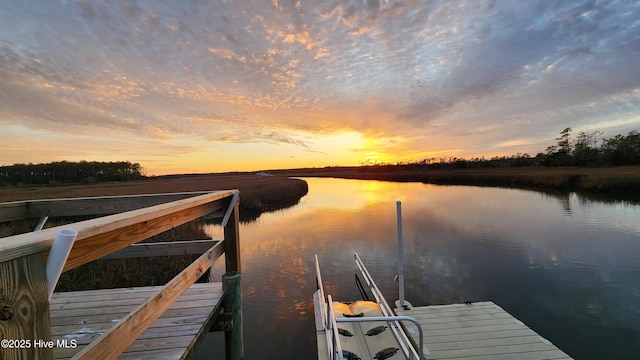
<path fill-rule="evenodd" d="M 375 302 L 363 296 L 365 301 L 344 304 L 325 296 L 316 256 L 313 303 L 320 360 L 571 359 L 490 301 L 414 307 L 398 300 L 391 309 L 358 254 L 355 263 Z M 358 287 L 366 295 L 364 286 Z M 375 306 L 379 311 L 367 311 Z"/>

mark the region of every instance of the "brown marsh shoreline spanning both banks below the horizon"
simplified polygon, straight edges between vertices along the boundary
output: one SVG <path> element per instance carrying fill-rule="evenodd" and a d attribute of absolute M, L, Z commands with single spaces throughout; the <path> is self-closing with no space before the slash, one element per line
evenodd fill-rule
<path fill-rule="evenodd" d="M 471 185 L 518 188 L 546 192 L 640 201 L 640 166 L 510 167 L 430 170 L 415 166 L 326 167 L 255 173 L 184 174 L 136 181 L 94 184 L 0 188 L 0 202 L 128 194 L 239 189 L 240 206 L 247 219 L 295 205 L 307 194 L 308 184 L 293 177 L 422 182 L 436 185 Z"/>

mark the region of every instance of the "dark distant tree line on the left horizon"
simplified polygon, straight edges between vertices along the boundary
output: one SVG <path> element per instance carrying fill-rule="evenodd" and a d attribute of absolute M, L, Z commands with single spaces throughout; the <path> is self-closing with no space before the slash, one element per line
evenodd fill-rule
<path fill-rule="evenodd" d="M 55 185 L 125 181 L 144 178 L 142 166 L 129 161 L 57 161 L 46 164 L 13 164 L 0 166 L 0 184 Z"/>

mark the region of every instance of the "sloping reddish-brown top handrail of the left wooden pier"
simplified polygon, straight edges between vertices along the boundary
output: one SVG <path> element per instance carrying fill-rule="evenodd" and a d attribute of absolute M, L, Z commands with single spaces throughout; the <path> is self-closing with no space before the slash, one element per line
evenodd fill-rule
<path fill-rule="evenodd" d="M 233 190 L 215 191 L 121 214 L 9 236 L 0 241 L 0 262 L 40 251 L 48 252 L 57 232 L 71 228 L 78 232 L 78 237 L 67 260 L 66 271 L 218 210 L 222 207 L 222 200 L 233 193 Z"/>

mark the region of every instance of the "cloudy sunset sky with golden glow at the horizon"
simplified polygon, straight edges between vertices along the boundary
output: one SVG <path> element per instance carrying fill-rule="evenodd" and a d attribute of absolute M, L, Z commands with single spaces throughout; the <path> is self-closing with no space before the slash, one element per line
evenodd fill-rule
<path fill-rule="evenodd" d="M 0 165 L 147 175 L 640 129 L 640 1 L 2 1 Z"/>

